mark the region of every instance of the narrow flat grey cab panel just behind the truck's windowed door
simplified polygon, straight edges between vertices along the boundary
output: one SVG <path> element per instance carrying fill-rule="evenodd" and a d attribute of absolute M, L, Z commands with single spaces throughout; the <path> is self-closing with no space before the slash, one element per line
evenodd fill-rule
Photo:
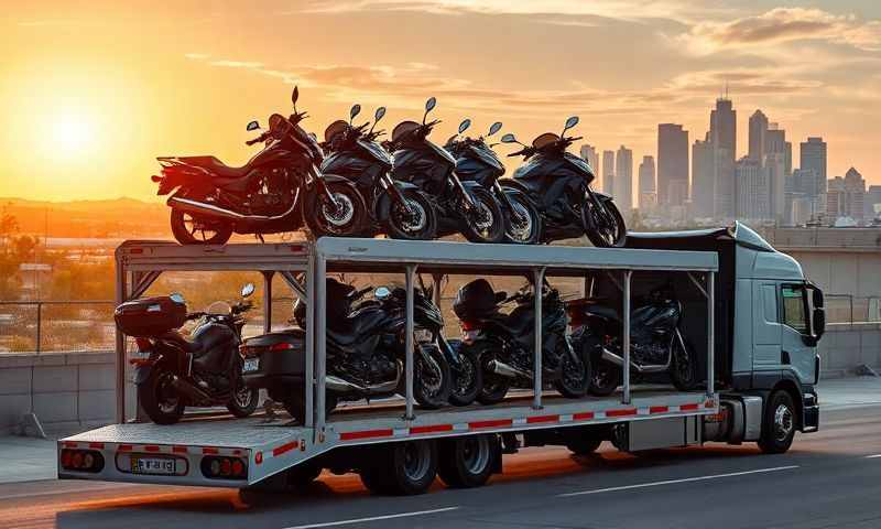
<path fill-rule="evenodd" d="M 755 281 L 752 294 L 752 367 L 757 371 L 780 369 L 777 283 Z"/>

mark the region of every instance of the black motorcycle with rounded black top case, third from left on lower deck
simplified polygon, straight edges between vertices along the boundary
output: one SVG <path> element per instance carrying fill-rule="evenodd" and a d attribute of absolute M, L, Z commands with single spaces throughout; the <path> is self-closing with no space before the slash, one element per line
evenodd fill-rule
<path fill-rule="evenodd" d="M 453 311 L 459 317 L 463 342 L 480 358 L 483 389 L 478 400 L 492 404 L 504 399 L 512 386 L 533 387 L 535 344 L 535 298 L 530 287 L 514 295 L 493 292 L 486 279 L 459 289 Z M 566 311 L 559 293 L 542 288 L 542 381 L 553 384 L 561 395 L 580 398 L 590 384 L 590 359 L 574 349 L 566 335 Z M 504 314 L 505 303 L 514 309 Z"/>

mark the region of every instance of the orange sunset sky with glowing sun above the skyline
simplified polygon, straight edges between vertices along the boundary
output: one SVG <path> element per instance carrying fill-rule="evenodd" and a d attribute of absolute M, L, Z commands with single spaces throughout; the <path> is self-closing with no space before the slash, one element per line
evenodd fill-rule
<path fill-rule="evenodd" d="M 464 117 L 527 141 L 575 114 L 638 164 L 659 122 L 703 139 L 727 82 L 738 156 L 761 108 L 796 166 L 823 136 L 829 176 L 881 184 L 878 0 L 6 2 L 0 68 L 0 196 L 156 199 L 155 156 L 243 163 L 246 123 L 289 112 L 293 84 L 318 133 L 352 102 L 391 129 L 434 95 L 435 141 Z"/>

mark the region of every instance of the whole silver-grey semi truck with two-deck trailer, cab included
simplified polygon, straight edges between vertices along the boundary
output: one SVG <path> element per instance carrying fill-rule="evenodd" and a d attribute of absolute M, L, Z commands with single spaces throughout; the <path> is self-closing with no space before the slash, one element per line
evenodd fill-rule
<path fill-rule="evenodd" d="M 817 342 L 823 293 L 791 257 L 748 227 L 629 234 L 626 248 L 472 245 L 455 241 L 322 238 L 289 244 L 182 247 L 127 241 L 116 252 L 117 301 L 141 296 L 165 271 L 255 270 L 263 274 L 264 331 L 271 331 L 273 277 L 306 302 L 304 420 L 283 413 L 248 419 L 189 417 L 173 425 L 138 420 L 127 385 L 127 338 L 117 335 L 117 423 L 58 441 L 58 477 L 149 484 L 296 487 L 323 471 L 357 472 L 374 493 L 418 494 L 439 475 L 452 487 L 483 485 L 519 447 L 565 445 L 575 453 L 603 441 L 626 452 L 757 442 L 788 450 L 796 432 L 818 428 Z M 325 278 L 398 273 L 407 292 L 402 399 L 327 414 Z M 621 312 L 622 365 L 630 365 L 631 301 L 672 288 L 688 317 L 682 335 L 700 385 L 677 390 L 621 370 L 607 397 L 565 399 L 542 381 L 533 354 L 532 390 L 493 406 L 418 409 L 413 399 L 413 290 L 417 274 L 525 277 L 533 284 L 575 278 L 581 295 Z M 435 289 L 439 296 L 439 289 Z M 541 296 L 535 311 L 541 311 Z M 536 317 L 534 352 L 541 352 Z"/>

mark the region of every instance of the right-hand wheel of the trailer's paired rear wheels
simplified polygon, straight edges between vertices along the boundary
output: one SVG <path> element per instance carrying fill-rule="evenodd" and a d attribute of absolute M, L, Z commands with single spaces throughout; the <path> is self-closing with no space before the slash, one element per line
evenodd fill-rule
<path fill-rule="evenodd" d="M 480 487 L 499 456 L 493 435 L 467 435 L 440 443 L 437 474 L 452 488 Z"/>

